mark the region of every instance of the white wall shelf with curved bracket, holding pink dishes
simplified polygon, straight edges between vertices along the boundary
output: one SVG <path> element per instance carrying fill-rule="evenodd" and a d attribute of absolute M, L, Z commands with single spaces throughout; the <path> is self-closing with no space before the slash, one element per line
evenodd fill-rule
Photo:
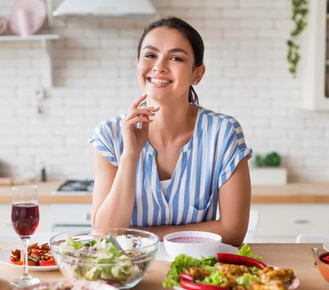
<path fill-rule="evenodd" d="M 45 71 L 42 72 L 42 86 L 44 88 L 51 88 L 53 86 L 53 62 L 51 40 L 59 39 L 58 34 L 35 34 L 30 36 L 0 36 L 0 42 L 14 42 L 14 41 L 40 41 L 42 49 L 47 55 L 47 65 Z"/>

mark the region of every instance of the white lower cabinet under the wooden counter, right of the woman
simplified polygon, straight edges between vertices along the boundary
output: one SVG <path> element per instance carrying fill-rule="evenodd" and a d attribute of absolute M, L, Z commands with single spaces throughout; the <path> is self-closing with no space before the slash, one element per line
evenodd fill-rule
<path fill-rule="evenodd" d="M 301 233 L 329 234 L 329 205 L 259 204 L 255 243 L 295 243 Z"/>

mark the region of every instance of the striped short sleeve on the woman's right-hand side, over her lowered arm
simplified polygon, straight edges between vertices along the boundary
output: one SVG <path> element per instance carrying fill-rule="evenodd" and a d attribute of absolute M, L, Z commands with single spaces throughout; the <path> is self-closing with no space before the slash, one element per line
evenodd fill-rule
<path fill-rule="evenodd" d="M 229 137 L 225 145 L 226 150 L 222 159 L 221 172 L 219 173 L 218 188 L 226 183 L 244 157 L 247 155 L 252 157 L 252 149 L 247 148 L 241 125 L 237 120 L 230 119 L 226 133 Z"/>

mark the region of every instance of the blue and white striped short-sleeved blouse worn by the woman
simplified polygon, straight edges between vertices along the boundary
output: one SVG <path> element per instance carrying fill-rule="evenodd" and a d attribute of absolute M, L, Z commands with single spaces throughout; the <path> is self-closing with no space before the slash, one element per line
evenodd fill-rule
<path fill-rule="evenodd" d="M 198 106 L 191 140 L 162 192 L 156 167 L 156 150 L 147 144 L 136 171 L 132 226 L 191 224 L 216 220 L 218 189 L 234 172 L 239 161 L 252 155 L 239 122 Z M 125 115 L 101 122 L 89 142 L 115 167 L 120 166 L 123 139 L 119 122 Z"/>

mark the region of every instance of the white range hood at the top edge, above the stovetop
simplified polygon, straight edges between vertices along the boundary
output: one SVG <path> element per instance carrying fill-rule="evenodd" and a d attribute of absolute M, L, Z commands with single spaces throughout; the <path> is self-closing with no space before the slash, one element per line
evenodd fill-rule
<path fill-rule="evenodd" d="M 151 0 L 64 0 L 53 16 L 149 18 L 157 12 Z"/>

